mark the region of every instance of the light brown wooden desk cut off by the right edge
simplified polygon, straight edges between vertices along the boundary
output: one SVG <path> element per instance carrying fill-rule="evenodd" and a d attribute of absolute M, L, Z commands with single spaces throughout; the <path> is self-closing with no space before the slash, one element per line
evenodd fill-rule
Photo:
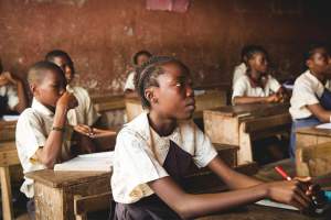
<path fill-rule="evenodd" d="M 296 165 L 300 176 L 319 176 L 331 172 L 331 130 L 298 129 Z"/>

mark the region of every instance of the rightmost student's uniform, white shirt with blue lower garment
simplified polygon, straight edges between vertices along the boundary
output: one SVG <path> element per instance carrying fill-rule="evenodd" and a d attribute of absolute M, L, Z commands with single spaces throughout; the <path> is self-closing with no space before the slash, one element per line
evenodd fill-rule
<path fill-rule="evenodd" d="M 308 69 L 295 81 L 292 97 L 290 99 L 289 112 L 292 117 L 292 129 L 290 138 L 290 156 L 293 158 L 296 153 L 296 130 L 303 127 L 320 124 L 307 106 L 320 103 L 324 109 L 331 110 L 331 81 L 327 80 L 323 85 Z"/>

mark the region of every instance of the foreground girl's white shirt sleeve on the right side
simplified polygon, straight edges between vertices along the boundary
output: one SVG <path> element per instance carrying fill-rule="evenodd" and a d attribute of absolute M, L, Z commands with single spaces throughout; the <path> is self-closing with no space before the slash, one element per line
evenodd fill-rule
<path fill-rule="evenodd" d="M 210 138 L 205 135 L 194 123 L 193 127 L 196 147 L 193 160 L 197 167 L 205 167 L 213 158 L 215 158 L 217 151 L 211 143 Z"/>

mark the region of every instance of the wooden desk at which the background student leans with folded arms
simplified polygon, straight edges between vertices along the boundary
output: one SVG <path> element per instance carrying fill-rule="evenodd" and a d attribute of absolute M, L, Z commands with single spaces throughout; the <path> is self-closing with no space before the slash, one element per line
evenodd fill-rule
<path fill-rule="evenodd" d="M 239 165 L 250 163 L 252 141 L 290 131 L 288 108 L 288 105 L 241 105 L 204 110 L 205 133 L 213 143 L 239 146 Z"/>

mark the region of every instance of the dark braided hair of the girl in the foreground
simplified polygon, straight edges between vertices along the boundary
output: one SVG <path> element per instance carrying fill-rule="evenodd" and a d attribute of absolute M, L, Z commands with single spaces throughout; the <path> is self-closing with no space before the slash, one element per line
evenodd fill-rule
<path fill-rule="evenodd" d="M 157 78 L 164 74 L 162 66 L 170 63 L 178 64 L 183 70 L 190 73 L 190 69 L 181 61 L 172 56 L 152 56 L 147 63 L 136 69 L 135 87 L 143 108 L 150 108 L 150 102 L 145 97 L 145 90 L 151 86 L 159 87 Z"/>

